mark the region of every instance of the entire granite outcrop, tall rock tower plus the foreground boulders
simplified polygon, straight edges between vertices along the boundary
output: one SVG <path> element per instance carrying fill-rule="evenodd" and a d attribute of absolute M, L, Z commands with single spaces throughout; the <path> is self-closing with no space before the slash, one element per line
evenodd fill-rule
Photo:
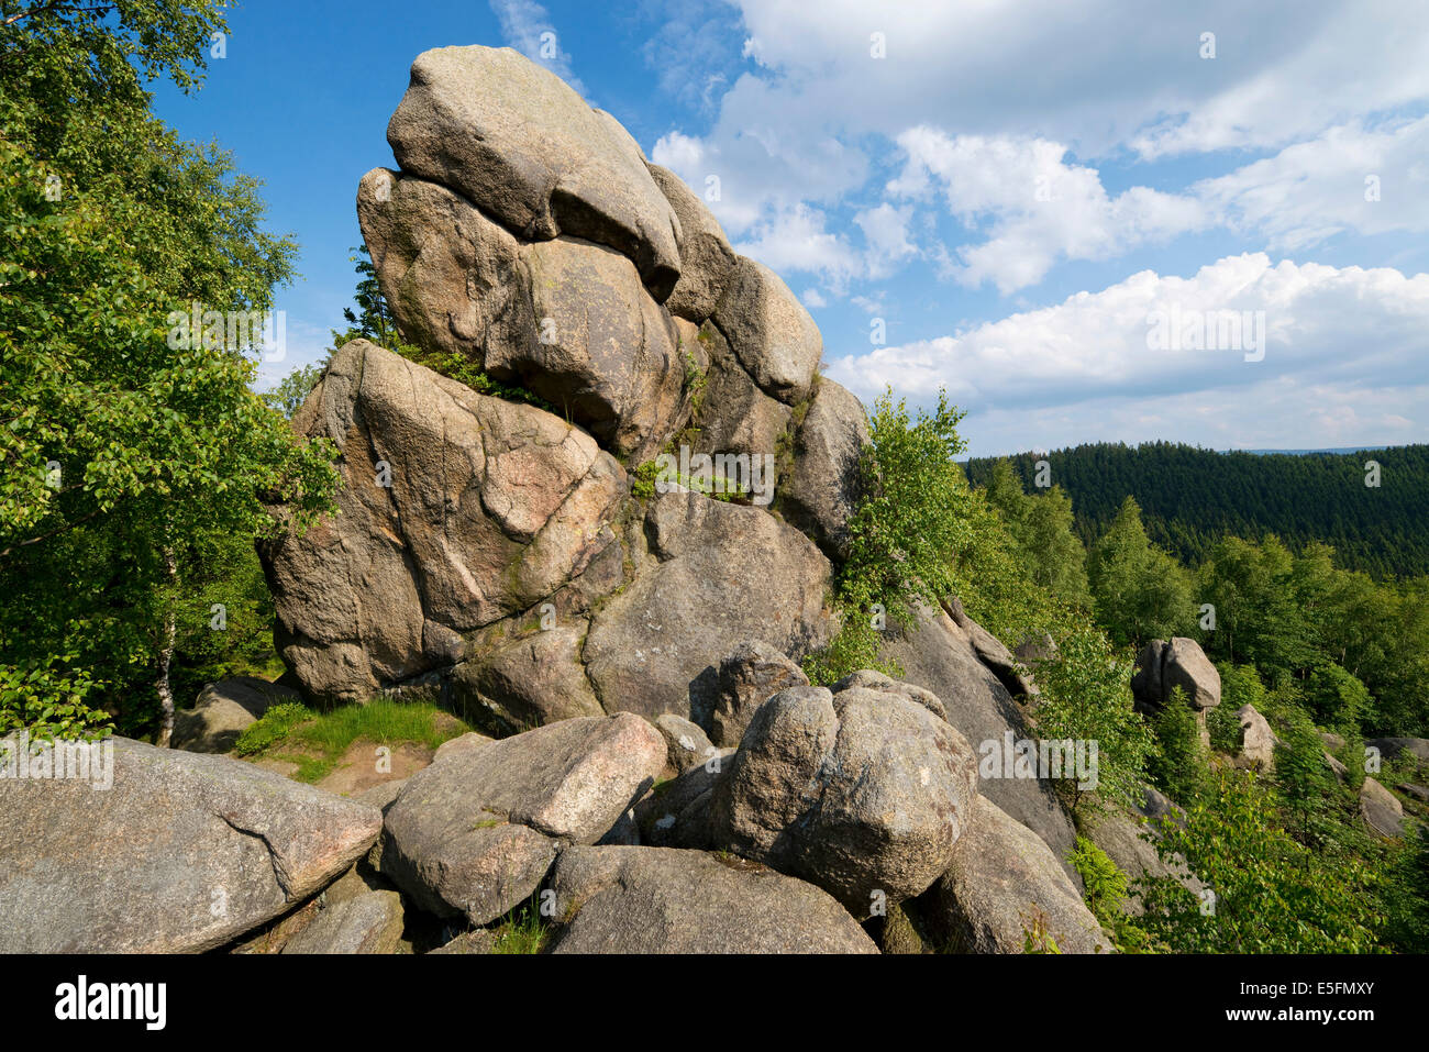
<path fill-rule="evenodd" d="M 377 280 L 472 383 L 337 350 L 293 426 L 337 447 L 339 513 L 260 556 L 284 685 L 482 733 L 346 799 L 209 755 L 290 696 L 246 685 L 187 718 L 193 752 L 116 740 L 109 790 L 0 780 L 0 952 L 434 948 L 416 918 L 484 952 L 523 903 L 556 952 L 865 953 L 909 915 L 963 952 L 1033 922 L 1109 952 L 1050 786 L 979 778 L 1036 688 L 960 605 L 889 630 L 905 682 L 800 670 L 869 436 L 789 287 L 509 49 L 419 56 L 387 140 L 357 190 Z M 652 487 L 682 449 L 733 499 Z M 1147 696 L 1218 703 L 1180 642 Z"/>

